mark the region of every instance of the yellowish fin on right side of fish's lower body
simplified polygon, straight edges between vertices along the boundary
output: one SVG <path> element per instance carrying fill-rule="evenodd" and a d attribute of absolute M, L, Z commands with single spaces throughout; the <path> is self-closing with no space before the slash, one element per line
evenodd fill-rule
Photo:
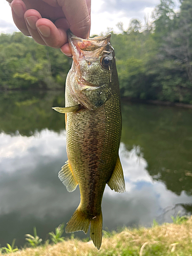
<path fill-rule="evenodd" d="M 125 182 L 124 182 L 124 177 L 123 177 L 123 169 L 121 166 L 121 162 L 119 159 L 119 156 L 117 158 L 117 162 L 115 165 L 115 169 L 113 171 L 113 174 L 108 181 L 108 186 L 116 192 L 121 192 L 123 193 L 125 191 Z"/>

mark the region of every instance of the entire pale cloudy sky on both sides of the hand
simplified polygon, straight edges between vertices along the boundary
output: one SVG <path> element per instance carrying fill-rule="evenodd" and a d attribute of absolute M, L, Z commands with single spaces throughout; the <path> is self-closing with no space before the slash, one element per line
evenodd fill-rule
<path fill-rule="evenodd" d="M 179 0 L 173 0 L 175 10 L 179 8 Z M 160 0 L 92 0 L 91 35 L 111 31 L 120 32 L 117 23 L 122 22 L 126 30 L 133 18 L 144 20 L 151 17 L 152 11 Z M 11 8 L 6 0 L 0 1 L 0 33 L 18 31 L 13 23 Z"/>

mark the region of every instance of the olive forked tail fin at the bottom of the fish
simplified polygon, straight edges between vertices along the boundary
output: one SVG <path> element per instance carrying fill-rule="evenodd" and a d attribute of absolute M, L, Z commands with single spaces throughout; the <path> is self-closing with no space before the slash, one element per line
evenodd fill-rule
<path fill-rule="evenodd" d="M 102 212 L 99 216 L 96 216 L 93 219 L 88 219 L 86 214 L 84 214 L 80 207 L 78 207 L 70 221 L 67 223 L 66 233 L 82 230 L 87 234 L 90 222 L 90 237 L 93 240 L 95 247 L 99 250 L 102 241 Z"/>

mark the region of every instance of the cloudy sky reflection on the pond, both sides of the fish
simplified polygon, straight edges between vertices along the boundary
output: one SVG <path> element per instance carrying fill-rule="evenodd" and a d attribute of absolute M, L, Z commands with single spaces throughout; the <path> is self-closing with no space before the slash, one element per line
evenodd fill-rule
<path fill-rule="evenodd" d="M 63 121 L 62 121 L 63 122 Z M 152 178 L 140 146 L 121 143 L 126 193 L 119 194 L 106 186 L 103 202 L 103 227 L 116 229 L 123 225 L 151 225 L 162 216 L 163 209 L 177 203 L 191 204 L 184 191 L 177 195 Z M 27 137 L 18 132 L 0 134 L 0 244 L 16 238 L 25 243 L 24 234 L 37 227 L 38 235 L 46 234 L 67 222 L 80 201 L 79 189 L 68 193 L 58 179 L 58 171 L 67 160 L 66 133 L 43 129 Z M 184 209 L 180 206 L 181 209 Z M 160 221 L 170 221 L 164 215 Z M 83 233 L 77 233 L 83 237 Z"/>

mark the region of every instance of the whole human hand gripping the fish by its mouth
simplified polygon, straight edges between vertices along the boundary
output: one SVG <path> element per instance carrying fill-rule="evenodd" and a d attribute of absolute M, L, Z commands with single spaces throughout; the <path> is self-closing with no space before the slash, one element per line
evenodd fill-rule
<path fill-rule="evenodd" d="M 61 48 L 72 56 L 67 30 L 81 38 L 89 36 L 91 0 L 6 0 L 17 28 L 40 45 Z"/>

